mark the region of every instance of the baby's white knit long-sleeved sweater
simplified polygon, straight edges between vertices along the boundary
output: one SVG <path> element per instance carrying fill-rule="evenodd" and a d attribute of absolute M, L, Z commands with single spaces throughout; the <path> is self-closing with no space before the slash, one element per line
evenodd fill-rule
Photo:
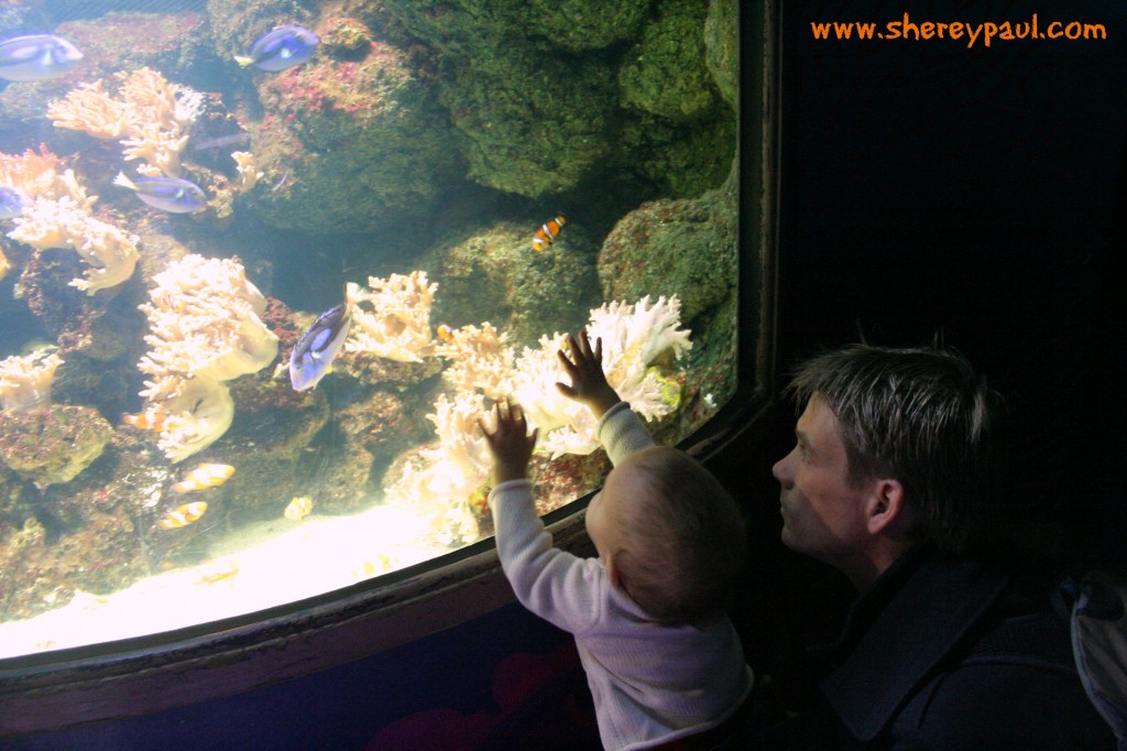
<path fill-rule="evenodd" d="M 625 403 L 603 416 L 598 438 L 614 463 L 654 444 Z M 703 732 L 751 692 L 752 671 L 726 616 L 696 626 L 655 621 L 611 585 L 601 560 L 552 547 L 529 480 L 502 483 L 489 505 L 517 599 L 575 635 L 606 749 L 645 749 Z"/>

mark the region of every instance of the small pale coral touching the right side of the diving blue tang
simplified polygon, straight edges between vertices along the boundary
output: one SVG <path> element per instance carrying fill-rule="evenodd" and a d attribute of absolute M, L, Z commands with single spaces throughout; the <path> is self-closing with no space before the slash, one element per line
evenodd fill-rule
<path fill-rule="evenodd" d="M 419 362 L 434 347 L 431 304 L 437 284 L 426 272 L 369 277 L 369 301 L 374 312 L 357 308 L 345 352 L 370 353 L 397 362 Z"/>

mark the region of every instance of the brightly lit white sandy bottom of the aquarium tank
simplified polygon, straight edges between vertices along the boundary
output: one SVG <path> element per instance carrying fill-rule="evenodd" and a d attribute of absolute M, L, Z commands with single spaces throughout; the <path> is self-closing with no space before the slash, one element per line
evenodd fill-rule
<path fill-rule="evenodd" d="M 286 529 L 290 527 L 291 529 Z M 207 560 L 154 574 L 113 594 L 76 592 L 66 606 L 0 624 L 0 659 L 114 642 L 241 616 L 450 553 L 410 511 L 375 506 L 240 529 Z"/>

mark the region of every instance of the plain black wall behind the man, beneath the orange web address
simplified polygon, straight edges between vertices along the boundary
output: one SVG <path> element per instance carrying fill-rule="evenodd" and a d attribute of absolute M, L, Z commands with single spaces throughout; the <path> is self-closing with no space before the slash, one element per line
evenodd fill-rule
<path fill-rule="evenodd" d="M 968 48 L 816 41 L 810 27 L 905 12 L 1037 12 L 1041 30 L 1099 23 L 1108 38 Z M 941 333 L 1008 399 L 1018 533 L 1121 564 L 1127 5 L 784 1 L 782 17 L 781 372 L 860 336 Z"/>

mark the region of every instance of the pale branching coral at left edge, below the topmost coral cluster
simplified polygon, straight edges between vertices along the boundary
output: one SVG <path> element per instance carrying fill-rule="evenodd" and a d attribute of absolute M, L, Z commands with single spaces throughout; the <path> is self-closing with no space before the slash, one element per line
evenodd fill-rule
<path fill-rule="evenodd" d="M 74 173 L 60 173 L 57 165 L 59 158 L 46 149 L 38 154 L 30 149 L 21 156 L 0 154 L 0 183 L 29 198 L 8 237 L 41 250 L 73 248 L 91 268 L 71 284 L 89 294 L 117 286 L 133 275 L 137 240 L 95 219 L 90 206 L 97 196 L 88 196 Z"/>

